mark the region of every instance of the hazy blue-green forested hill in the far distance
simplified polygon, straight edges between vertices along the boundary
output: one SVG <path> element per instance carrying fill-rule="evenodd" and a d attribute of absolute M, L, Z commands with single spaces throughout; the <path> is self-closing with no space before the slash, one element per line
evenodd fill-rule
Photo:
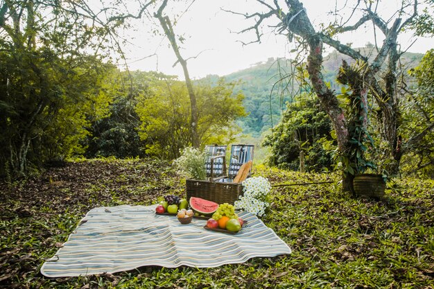
<path fill-rule="evenodd" d="M 358 49 L 358 51 L 363 55 L 370 56 L 373 54 L 374 46 L 368 45 Z M 410 69 L 419 64 L 422 56 L 422 53 L 404 53 L 401 64 L 405 65 L 406 70 Z M 348 63 L 354 62 L 337 51 L 324 57 L 324 79 L 330 82 L 332 87 L 338 88 L 334 77 L 340 64 L 342 64 L 342 60 L 346 60 Z M 262 132 L 271 128 L 272 124 L 276 125 L 279 122 L 281 113 L 286 109 L 286 103 L 291 102 L 293 94 L 298 89 L 297 85 L 285 87 L 284 82 L 288 82 L 288 79 L 277 83 L 281 76 L 290 73 L 291 69 L 290 60 L 268 58 L 265 62 L 252 64 L 247 69 L 224 76 L 228 81 L 241 81 L 236 90 L 243 91 L 245 95 L 244 107 L 249 114 L 238 121 L 238 125 L 243 128 L 243 133 L 259 137 Z M 216 82 L 217 79 L 218 76 L 210 75 L 204 80 Z"/>

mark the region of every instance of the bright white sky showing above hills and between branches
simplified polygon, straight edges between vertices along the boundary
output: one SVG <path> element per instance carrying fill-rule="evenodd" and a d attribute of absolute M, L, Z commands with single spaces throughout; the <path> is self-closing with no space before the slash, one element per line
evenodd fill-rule
<path fill-rule="evenodd" d="M 171 3 L 172 2 L 172 3 Z M 348 1 L 355 2 L 355 1 Z M 169 1 L 172 6 L 166 9 L 167 15 L 182 15 L 174 27 L 177 35 L 183 35 L 185 41 L 180 44 L 181 54 L 188 61 L 191 78 L 202 78 L 209 74 L 225 76 L 229 73 L 250 67 L 257 62 L 264 62 L 268 58 L 291 58 L 290 53 L 295 49 L 294 42 L 288 42 L 283 35 L 276 35 L 274 28 L 264 27 L 261 43 L 243 45 L 241 42 L 255 40 L 254 33 L 236 33 L 249 26 L 252 21 L 244 19 L 241 15 L 225 12 L 255 12 L 262 6 L 253 0 L 196 0 L 196 1 Z M 173 6 L 173 3 L 176 6 Z M 333 18 L 328 12 L 334 10 L 335 4 L 342 7 L 341 0 L 311 0 L 303 1 L 313 24 L 318 27 L 322 22 L 331 21 Z M 388 0 L 387 6 L 379 7 L 379 12 L 386 18 L 393 15 L 391 9 L 401 1 Z M 189 7 L 188 9 L 186 9 Z M 343 15 L 349 15 L 343 12 Z M 276 22 L 275 22 L 276 23 Z M 350 22 L 351 23 L 351 22 Z M 354 23 L 354 22 L 353 22 Z M 182 67 L 176 62 L 175 53 L 168 44 L 164 35 L 155 35 L 152 31 L 158 27 L 157 19 L 144 19 L 135 21 L 134 29 L 124 31 L 125 39 L 130 42 L 123 47 L 130 70 L 160 71 L 168 75 L 178 76 L 184 79 Z M 271 24 L 271 23 L 270 23 Z M 383 38 L 376 33 L 377 42 L 381 45 Z M 434 48 L 434 40 L 431 38 L 418 38 L 410 46 L 415 38 L 411 33 L 403 33 L 399 42 L 401 49 L 410 52 L 425 53 Z M 353 47 L 365 46 L 368 42 L 374 43 L 372 27 L 365 26 L 357 33 L 347 33 L 340 37 L 342 43 L 352 43 Z M 410 47 L 409 47 L 410 46 Z M 331 51 L 328 49 L 327 51 Z"/>

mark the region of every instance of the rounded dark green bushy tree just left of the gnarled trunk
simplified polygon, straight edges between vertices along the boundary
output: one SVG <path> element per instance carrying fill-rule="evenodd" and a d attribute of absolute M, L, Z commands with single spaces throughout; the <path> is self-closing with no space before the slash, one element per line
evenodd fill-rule
<path fill-rule="evenodd" d="M 318 99 L 306 94 L 288 104 L 286 113 L 272 134 L 264 137 L 263 145 L 271 147 L 268 162 L 272 166 L 298 170 L 300 151 L 304 151 L 306 170 L 331 168 L 331 122 L 322 112 Z"/>

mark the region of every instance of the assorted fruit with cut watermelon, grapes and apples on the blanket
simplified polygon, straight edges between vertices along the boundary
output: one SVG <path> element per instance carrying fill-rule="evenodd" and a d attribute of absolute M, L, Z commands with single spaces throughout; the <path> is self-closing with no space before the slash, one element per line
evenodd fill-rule
<path fill-rule="evenodd" d="M 187 210 L 188 204 L 191 209 Z M 177 214 L 178 218 L 189 218 L 191 216 L 211 217 L 207 220 L 207 227 L 210 229 L 224 229 L 238 232 L 243 227 L 243 219 L 235 213 L 232 204 L 217 204 L 209 200 L 191 197 L 190 202 L 175 195 L 166 195 L 164 201 L 155 208 L 157 213 Z"/>

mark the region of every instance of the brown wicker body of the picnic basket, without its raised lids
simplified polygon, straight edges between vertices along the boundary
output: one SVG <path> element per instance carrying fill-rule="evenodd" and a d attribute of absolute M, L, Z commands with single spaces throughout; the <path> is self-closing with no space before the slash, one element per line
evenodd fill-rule
<path fill-rule="evenodd" d="M 198 179 L 186 179 L 187 200 L 191 197 L 216 202 L 234 204 L 243 195 L 243 186 L 238 183 L 209 182 Z"/>

